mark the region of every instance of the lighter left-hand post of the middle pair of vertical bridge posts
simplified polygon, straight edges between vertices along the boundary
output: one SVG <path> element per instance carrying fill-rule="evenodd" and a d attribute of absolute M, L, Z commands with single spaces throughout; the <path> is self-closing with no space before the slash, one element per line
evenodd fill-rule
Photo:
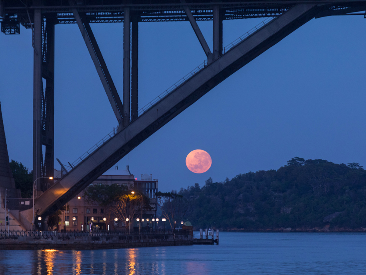
<path fill-rule="evenodd" d="M 123 127 L 130 124 L 130 8 L 123 11 Z"/>

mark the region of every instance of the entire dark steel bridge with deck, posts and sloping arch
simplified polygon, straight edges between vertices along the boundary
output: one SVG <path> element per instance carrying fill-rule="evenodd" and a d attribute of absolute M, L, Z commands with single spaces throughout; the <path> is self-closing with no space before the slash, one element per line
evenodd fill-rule
<path fill-rule="evenodd" d="M 119 127 L 66 169 L 53 183 L 36 185 L 34 209 L 47 220 L 143 140 L 196 102 L 210 89 L 313 18 L 363 15 L 361 0 L 0 0 L 1 32 L 31 29 L 33 67 L 33 178 L 53 175 L 55 25 L 77 24 Z M 223 48 L 223 20 L 267 18 Z M 143 110 L 138 110 L 138 26 L 140 22 L 189 21 L 207 60 Z M 197 21 L 213 21 L 209 45 Z M 90 23 L 123 23 L 122 98 L 113 83 Z M 43 80 L 45 87 L 43 87 Z M 42 155 L 45 146 L 45 157 Z M 19 212 L 32 228 L 32 209 Z"/>

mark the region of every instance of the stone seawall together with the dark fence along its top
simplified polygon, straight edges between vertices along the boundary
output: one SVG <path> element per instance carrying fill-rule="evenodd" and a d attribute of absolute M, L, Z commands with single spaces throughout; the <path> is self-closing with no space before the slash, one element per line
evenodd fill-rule
<path fill-rule="evenodd" d="M 0 250 L 118 249 L 193 245 L 190 230 L 0 231 Z"/>

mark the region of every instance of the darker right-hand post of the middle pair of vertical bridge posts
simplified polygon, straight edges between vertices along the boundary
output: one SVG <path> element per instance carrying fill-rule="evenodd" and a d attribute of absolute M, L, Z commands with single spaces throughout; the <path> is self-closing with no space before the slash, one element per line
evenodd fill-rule
<path fill-rule="evenodd" d="M 138 114 L 138 16 L 131 19 L 131 121 L 134 121 Z"/>

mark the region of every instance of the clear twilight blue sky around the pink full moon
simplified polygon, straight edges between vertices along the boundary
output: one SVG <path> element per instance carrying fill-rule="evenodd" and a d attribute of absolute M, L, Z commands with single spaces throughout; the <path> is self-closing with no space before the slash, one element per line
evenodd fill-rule
<path fill-rule="evenodd" d="M 264 19 L 224 21 L 227 45 Z M 212 22 L 198 22 L 212 45 Z M 92 24 L 122 97 L 123 24 Z M 56 25 L 55 158 L 74 162 L 117 125 L 77 25 Z M 244 66 L 119 161 L 161 191 L 278 169 L 293 157 L 366 166 L 366 20 L 313 19 Z M 211 46 L 212 48 L 212 46 Z M 139 24 L 139 109 L 205 55 L 189 22 Z M 32 167 L 31 30 L 0 34 L 0 100 L 10 159 Z M 212 157 L 203 174 L 186 155 Z M 60 169 L 55 161 L 55 168 Z"/>

